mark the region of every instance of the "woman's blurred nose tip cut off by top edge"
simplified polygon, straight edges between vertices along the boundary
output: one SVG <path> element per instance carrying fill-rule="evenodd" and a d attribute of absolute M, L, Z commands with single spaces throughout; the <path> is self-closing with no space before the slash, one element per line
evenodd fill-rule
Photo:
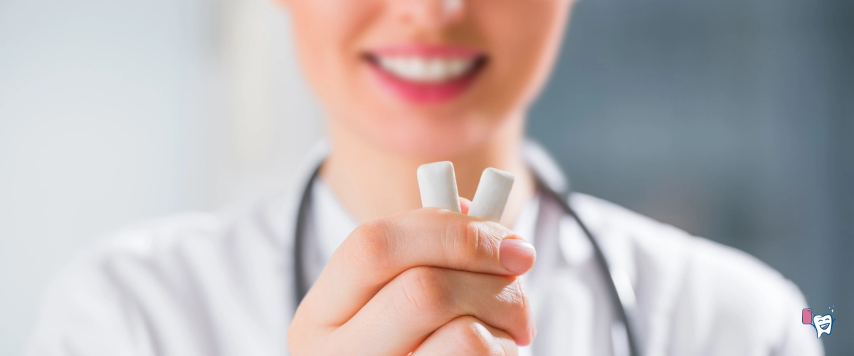
<path fill-rule="evenodd" d="M 399 20 L 412 26 L 436 28 L 459 21 L 465 0 L 389 0 Z"/>

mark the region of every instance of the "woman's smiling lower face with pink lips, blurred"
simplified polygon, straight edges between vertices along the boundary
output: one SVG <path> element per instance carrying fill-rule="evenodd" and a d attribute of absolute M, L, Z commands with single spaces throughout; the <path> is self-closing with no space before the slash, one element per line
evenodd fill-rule
<path fill-rule="evenodd" d="M 280 1 L 334 129 L 448 157 L 522 130 L 571 0 Z"/>

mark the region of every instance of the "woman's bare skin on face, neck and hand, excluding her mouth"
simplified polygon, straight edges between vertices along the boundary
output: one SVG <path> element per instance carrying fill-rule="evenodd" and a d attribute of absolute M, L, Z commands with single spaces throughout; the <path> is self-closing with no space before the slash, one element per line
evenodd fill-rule
<path fill-rule="evenodd" d="M 516 354 L 535 333 L 516 278 L 535 253 L 502 225 L 534 194 L 519 153 L 524 116 L 553 66 L 570 0 L 279 1 L 325 108 L 332 151 L 321 178 L 364 223 L 298 308 L 291 353 Z M 411 102 L 366 61 L 401 44 L 465 47 L 488 61 L 459 96 Z M 419 209 L 416 169 L 436 160 L 453 162 L 469 198 L 483 169 L 514 173 L 502 225 Z"/>

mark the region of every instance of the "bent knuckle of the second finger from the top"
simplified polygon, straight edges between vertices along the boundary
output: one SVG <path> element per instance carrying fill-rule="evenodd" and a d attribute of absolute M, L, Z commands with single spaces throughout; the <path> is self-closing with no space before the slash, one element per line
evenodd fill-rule
<path fill-rule="evenodd" d="M 440 272 L 432 267 L 415 267 L 401 273 L 405 309 L 436 317 L 446 310 L 450 296 Z"/>

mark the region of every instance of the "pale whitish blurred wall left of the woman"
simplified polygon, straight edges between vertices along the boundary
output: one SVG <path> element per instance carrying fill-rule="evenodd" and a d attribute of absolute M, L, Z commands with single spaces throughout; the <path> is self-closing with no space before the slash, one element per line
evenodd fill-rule
<path fill-rule="evenodd" d="M 0 1 L 0 355 L 81 248 L 289 186 L 319 109 L 265 0 Z"/>

